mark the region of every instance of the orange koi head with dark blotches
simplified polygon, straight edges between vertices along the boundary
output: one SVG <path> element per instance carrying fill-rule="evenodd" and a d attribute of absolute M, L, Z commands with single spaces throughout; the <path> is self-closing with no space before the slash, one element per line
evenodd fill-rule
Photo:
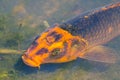
<path fill-rule="evenodd" d="M 79 36 L 73 36 L 55 26 L 38 36 L 23 54 L 22 59 L 31 67 L 39 67 L 45 63 L 67 62 L 75 58 L 75 54 L 83 48 L 84 43 Z"/>

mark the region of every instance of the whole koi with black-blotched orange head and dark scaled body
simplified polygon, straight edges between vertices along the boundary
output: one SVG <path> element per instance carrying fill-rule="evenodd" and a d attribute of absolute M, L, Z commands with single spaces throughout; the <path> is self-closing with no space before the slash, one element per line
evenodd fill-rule
<path fill-rule="evenodd" d="M 115 51 L 102 46 L 120 35 L 120 2 L 84 12 L 37 36 L 22 55 L 31 67 L 77 58 L 115 63 Z"/>

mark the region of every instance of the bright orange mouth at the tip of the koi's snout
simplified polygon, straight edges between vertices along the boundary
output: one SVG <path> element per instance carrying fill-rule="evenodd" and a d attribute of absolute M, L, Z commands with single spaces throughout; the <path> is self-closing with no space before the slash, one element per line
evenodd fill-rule
<path fill-rule="evenodd" d="M 22 56 L 22 60 L 26 65 L 28 65 L 30 67 L 39 67 L 40 66 L 40 64 L 38 64 L 34 60 L 31 60 L 29 57 L 27 57 L 26 54 L 24 54 Z"/>

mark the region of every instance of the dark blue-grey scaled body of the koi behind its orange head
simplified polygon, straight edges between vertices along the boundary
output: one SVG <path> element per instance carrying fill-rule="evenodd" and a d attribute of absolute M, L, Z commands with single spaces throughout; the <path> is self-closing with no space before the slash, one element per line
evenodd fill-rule
<path fill-rule="evenodd" d="M 120 2 L 80 14 L 60 27 L 72 35 L 80 35 L 90 45 L 105 43 L 120 34 Z"/>

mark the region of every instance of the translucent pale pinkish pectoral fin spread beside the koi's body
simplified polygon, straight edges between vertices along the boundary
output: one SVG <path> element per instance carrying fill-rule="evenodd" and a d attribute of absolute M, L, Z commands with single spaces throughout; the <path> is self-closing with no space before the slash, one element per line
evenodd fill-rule
<path fill-rule="evenodd" d="M 79 57 L 105 63 L 116 63 L 118 59 L 116 51 L 104 46 L 90 48 L 85 53 L 80 54 Z"/>

